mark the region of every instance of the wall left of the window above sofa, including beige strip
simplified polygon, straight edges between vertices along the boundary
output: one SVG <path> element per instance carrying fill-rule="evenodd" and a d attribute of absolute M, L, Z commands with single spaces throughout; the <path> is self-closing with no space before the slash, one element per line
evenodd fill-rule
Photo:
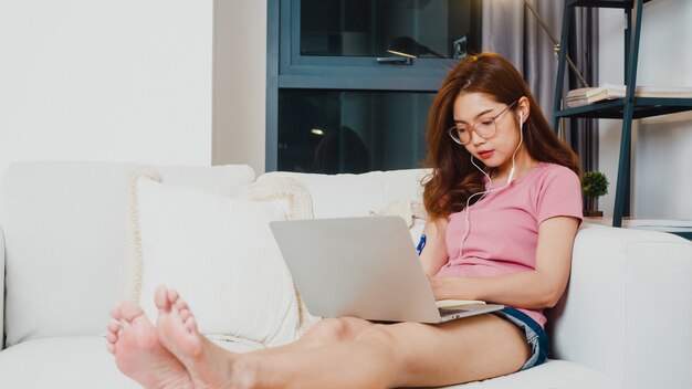
<path fill-rule="evenodd" d="M 263 170 L 265 31 L 255 0 L 0 0 L 0 170 L 211 165 L 212 109 L 227 113 L 214 125 L 231 139 L 213 161 Z"/>

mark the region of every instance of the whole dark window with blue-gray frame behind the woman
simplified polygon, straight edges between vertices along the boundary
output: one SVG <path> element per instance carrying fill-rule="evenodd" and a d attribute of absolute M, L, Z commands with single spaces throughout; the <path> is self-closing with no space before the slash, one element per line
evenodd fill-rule
<path fill-rule="evenodd" d="M 270 0 L 268 25 L 268 171 L 416 168 L 439 85 L 480 51 L 481 2 Z"/>

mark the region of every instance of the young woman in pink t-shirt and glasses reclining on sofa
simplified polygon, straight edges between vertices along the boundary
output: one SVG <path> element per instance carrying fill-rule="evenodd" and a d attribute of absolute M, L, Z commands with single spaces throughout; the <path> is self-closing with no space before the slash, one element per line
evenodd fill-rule
<path fill-rule="evenodd" d="M 394 388 L 543 362 L 542 309 L 565 290 L 580 222 L 575 155 L 514 66 L 490 53 L 447 76 L 427 140 L 421 261 L 433 294 L 511 308 L 439 325 L 326 318 L 294 344 L 233 354 L 201 336 L 186 303 L 161 286 L 156 327 L 130 303 L 112 312 L 108 350 L 120 370 L 147 388 Z"/>

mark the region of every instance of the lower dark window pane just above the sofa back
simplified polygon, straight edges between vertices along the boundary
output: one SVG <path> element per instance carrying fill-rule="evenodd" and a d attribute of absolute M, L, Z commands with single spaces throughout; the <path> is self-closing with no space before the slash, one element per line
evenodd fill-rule
<path fill-rule="evenodd" d="M 434 93 L 281 90 L 279 170 L 322 174 L 421 167 Z"/>

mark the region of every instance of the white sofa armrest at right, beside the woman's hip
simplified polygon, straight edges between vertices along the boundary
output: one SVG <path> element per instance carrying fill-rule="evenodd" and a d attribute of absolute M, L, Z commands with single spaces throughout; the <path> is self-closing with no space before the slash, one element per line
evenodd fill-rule
<path fill-rule="evenodd" d="M 565 296 L 548 314 L 553 358 L 598 369 L 626 388 L 686 388 L 692 243 L 585 223 Z"/>

